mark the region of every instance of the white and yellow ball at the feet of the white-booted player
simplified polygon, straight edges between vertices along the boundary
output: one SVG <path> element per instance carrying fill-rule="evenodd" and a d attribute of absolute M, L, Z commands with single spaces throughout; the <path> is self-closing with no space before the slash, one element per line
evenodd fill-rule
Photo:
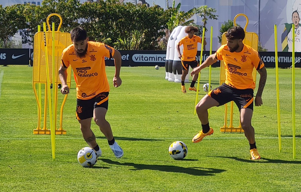
<path fill-rule="evenodd" d="M 92 167 L 97 159 L 96 151 L 91 147 L 84 147 L 77 153 L 77 160 L 83 167 Z"/>

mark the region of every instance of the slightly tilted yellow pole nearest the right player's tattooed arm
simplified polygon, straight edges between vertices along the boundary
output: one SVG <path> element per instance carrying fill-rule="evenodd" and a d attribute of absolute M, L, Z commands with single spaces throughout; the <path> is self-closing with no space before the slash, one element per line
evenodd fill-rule
<path fill-rule="evenodd" d="M 277 123 L 278 123 L 278 146 L 281 153 L 281 124 L 280 124 L 280 99 L 279 99 L 279 73 L 278 73 L 278 49 L 277 49 L 277 25 L 274 25 L 275 34 L 275 72 L 276 72 L 276 94 L 277 94 Z"/>

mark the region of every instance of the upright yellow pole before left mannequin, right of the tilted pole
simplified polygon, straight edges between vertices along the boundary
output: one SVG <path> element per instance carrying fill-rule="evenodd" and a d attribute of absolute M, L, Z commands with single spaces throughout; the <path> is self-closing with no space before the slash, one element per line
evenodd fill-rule
<path fill-rule="evenodd" d="M 55 44 L 54 44 L 54 22 L 52 22 L 52 129 L 50 131 L 50 137 L 51 137 L 51 146 L 53 146 L 53 154 L 55 153 L 55 129 L 56 129 L 56 125 L 55 125 L 55 118 L 56 118 L 56 113 L 55 113 L 55 94 L 57 94 L 56 91 L 56 85 L 55 85 Z"/>

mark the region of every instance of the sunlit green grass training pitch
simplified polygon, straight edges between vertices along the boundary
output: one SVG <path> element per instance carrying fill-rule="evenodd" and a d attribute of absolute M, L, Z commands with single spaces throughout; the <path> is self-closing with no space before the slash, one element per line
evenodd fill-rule
<path fill-rule="evenodd" d="M 0 191 L 301 190 L 300 69 L 295 71 L 297 158 L 292 159 L 292 70 L 279 70 L 282 135 L 282 153 L 279 153 L 275 69 L 267 69 L 264 104 L 254 106 L 252 121 L 262 156 L 256 162 L 250 160 L 249 144 L 243 133 L 219 132 L 224 124 L 224 107 L 210 109 L 214 134 L 200 143 L 191 142 L 201 129 L 197 116 L 193 116 L 195 92 L 183 94 L 180 84 L 165 80 L 163 67 L 159 70 L 122 67 L 123 82 L 118 88 L 112 86 L 114 67 L 106 70 L 111 85 L 106 119 L 124 150 L 124 157 L 114 157 L 107 140 L 92 122 L 102 157 L 94 168 L 83 168 L 76 155 L 87 144 L 75 118 L 73 78 L 63 114 L 67 134 L 56 136 L 56 159 L 52 161 L 50 135 L 33 135 L 37 127 L 37 104 L 32 89 L 32 67 L 0 67 L 3 75 Z M 207 80 L 208 69 L 205 69 L 200 87 Z M 219 68 L 212 68 L 213 88 L 218 86 L 218 80 Z M 255 94 L 256 91 L 257 88 Z M 199 100 L 205 94 L 201 90 Z M 62 98 L 59 94 L 59 103 Z M 234 116 L 234 125 L 238 125 L 236 106 Z M 188 146 L 188 156 L 182 161 L 173 160 L 168 154 L 169 145 L 177 140 Z"/>

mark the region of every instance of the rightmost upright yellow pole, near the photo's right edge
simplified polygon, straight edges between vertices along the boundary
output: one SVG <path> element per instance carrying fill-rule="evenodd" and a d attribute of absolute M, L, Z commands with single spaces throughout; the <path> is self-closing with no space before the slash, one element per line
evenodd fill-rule
<path fill-rule="evenodd" d="M 293 124 L 293 159 L 296 158 L 295 130 L 295 25 L 292 24 L 292 124 Z"/>

